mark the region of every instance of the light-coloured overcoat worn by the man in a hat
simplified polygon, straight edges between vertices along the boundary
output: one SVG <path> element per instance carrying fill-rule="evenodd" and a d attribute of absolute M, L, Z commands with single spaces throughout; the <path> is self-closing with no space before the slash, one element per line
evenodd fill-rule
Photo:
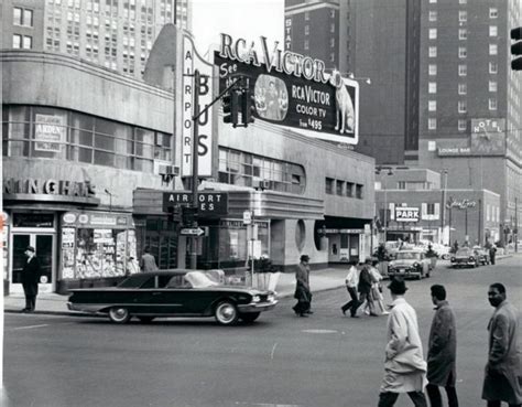
<path fill-rule="evenodd" d="M 422 392 L 426 385 L 426 362 L 423 358 L 417 317 L 402 297 L 392 303 L 387 338 L 381 392 Z"/>

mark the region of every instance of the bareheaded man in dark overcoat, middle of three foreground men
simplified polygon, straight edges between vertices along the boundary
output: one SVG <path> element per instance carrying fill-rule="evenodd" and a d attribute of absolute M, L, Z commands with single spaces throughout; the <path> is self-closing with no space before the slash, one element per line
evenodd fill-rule
<path fill-rule="evenodd" d="M 444 286 L 431 287 L 432 302 L 435 306 L 427 350 L 426 392 L 432 407 L 443 407 L 438 387 L 446 389 L 448 407 L 458 407 L 455 388 L 457 369 L 457 329 L 455 314 L 446 300 Z"/>

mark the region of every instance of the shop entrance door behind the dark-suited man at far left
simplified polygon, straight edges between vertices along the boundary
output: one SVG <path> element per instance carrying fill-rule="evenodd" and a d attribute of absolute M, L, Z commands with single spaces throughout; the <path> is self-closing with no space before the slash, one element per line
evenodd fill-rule
<path fill-rule="evenodd" d="M 36 249 L 36 257 L 40 260 L 41 277 L 39 291 L 53 292 L 54 290 L 54 264 L 53 264 L 53 234 L 20 233 L 13 234 L 12 244 L 12 276 L 11 290 L 13 292 L 23 292 L 22 270 L 28 261 L 25 249 L 33 246 Z"/>

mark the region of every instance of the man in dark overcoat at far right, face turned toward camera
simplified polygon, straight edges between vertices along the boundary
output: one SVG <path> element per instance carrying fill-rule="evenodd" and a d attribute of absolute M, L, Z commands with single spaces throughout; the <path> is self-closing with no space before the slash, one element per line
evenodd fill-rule
<path fill-rule="evenodd" d="M 518 314 L 507 297 L 502 283 L 489 286 L 488 300 L 494 311 L 488 324 L 488 363 L 482 387 L 488 407 L 500 407 L 501 401 L 510 407 L 522 406 Z"/>

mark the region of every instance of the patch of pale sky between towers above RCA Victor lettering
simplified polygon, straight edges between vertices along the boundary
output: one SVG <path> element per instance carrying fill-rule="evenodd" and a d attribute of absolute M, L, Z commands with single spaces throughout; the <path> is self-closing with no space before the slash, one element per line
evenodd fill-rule
<path fill-rule="evenodd" d="M 193 34 L 198 53 L 204 56 L 209 46 L 219 44 L 219 34 L 232 39 L 269 43 L 280 41 L 283 49 L 284 0 L 193 0 Z"/>

